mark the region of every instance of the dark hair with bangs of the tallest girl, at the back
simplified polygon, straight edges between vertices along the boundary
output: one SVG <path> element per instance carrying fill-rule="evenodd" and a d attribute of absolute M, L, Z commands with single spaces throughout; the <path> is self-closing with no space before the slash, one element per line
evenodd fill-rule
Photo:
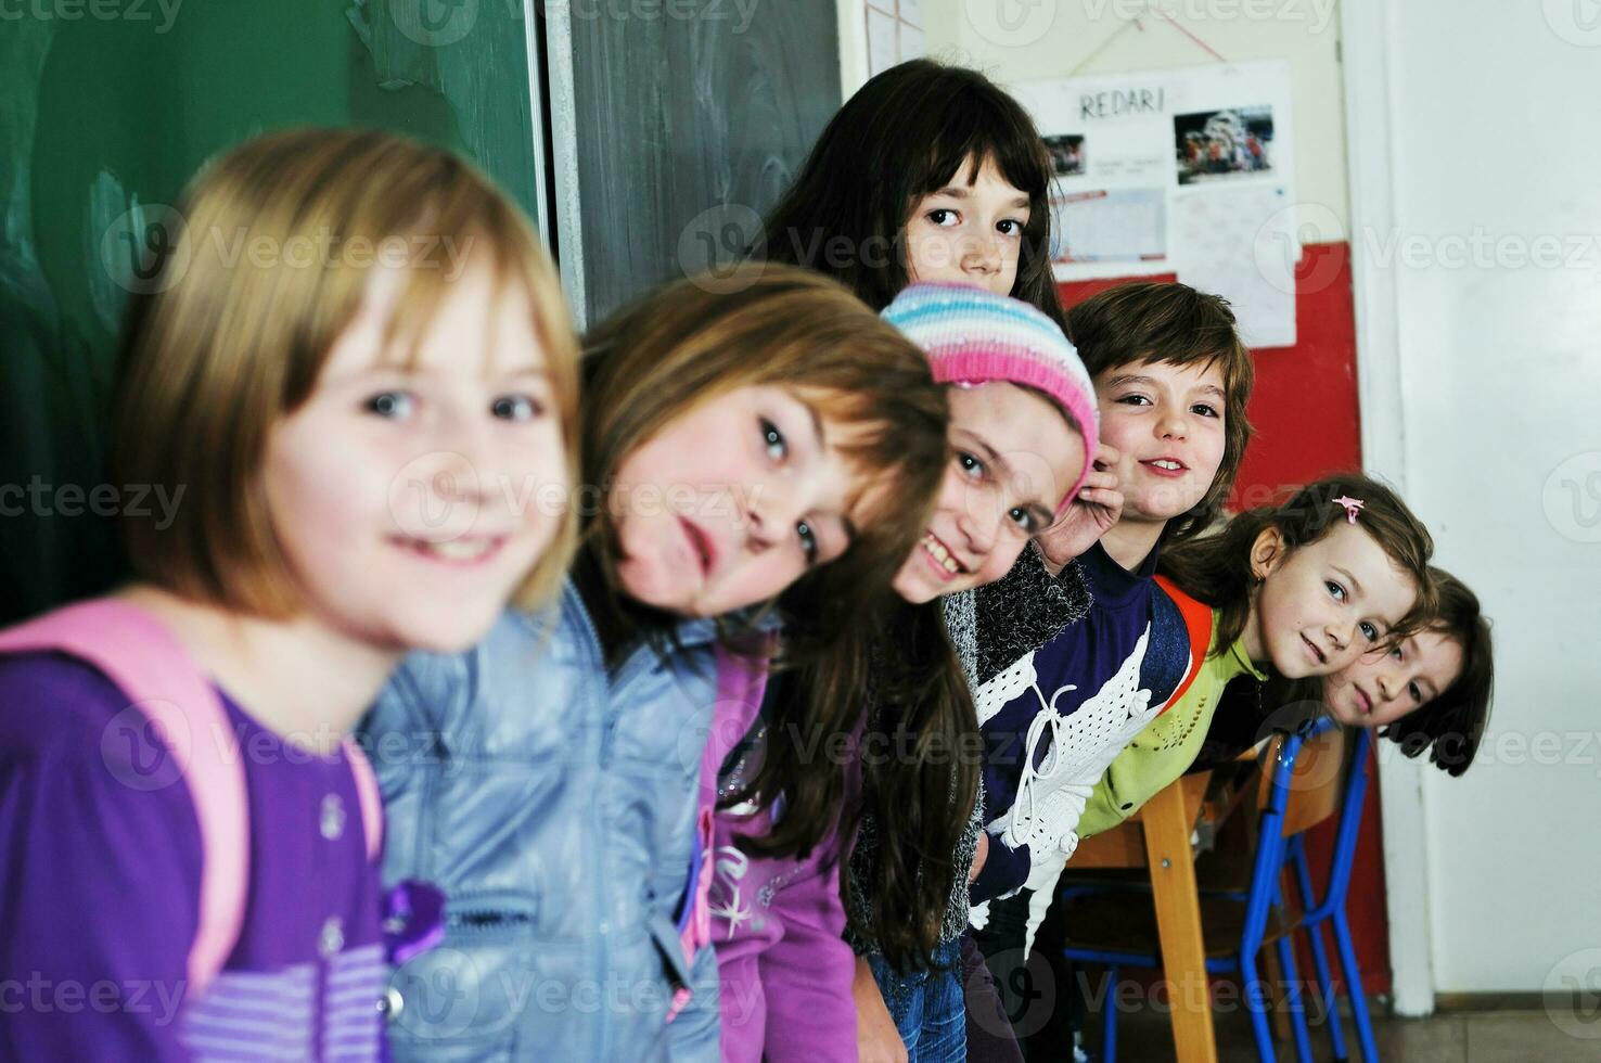
<path fill-rule="evenodd" d="M 913 59 L 845 101 L 800 176 L 767 216 L 754 253 L 841 280 L 874 311 L 906 287 L 906 223 L 919 199 L 993 162 L 1028 195 L 1010 295 L 1061 323 L 1050 274 L 1050 157 L 1012 96 L 959 66 Z"/>

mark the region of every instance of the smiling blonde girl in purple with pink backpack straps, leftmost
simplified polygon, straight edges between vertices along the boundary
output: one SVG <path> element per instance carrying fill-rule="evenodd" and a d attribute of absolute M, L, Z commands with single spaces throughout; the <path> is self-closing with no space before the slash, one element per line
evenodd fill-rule
<path fill-rule="evenodd" d="M 576 339 L 528 223 L 432 147 L 264 136 L 183 215 L 114 453 L 187 498 L 128 514 L 130 586 L 0 632 L 0 985 L 54 988 L 0 1057 L 376 1060 L 381 812 L 346 735 L 407 650 L 549 599 L 575 525 L 498 485 L 568 490 Z"/>

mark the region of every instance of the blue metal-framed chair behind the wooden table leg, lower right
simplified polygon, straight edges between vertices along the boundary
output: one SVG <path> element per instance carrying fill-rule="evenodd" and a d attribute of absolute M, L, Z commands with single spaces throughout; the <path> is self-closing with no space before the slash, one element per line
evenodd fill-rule
<path fill-rule="evenodd" d="M 1295 1034 L 1295 1050 L 1300 1060 L 1311 1061 L 1311 1039 L 1306 1029 L 1306 1013 L 1302 1002 L 1300 980 L 1295 973 L 1294 933 L 1306 930 L 1316 965 L 1316 986 L 1329 1017 L 1329 1037 L 1337 1058 L 1346 1058 L 1345 1036 L 1335 1009 L 1334 981 L 1329 957 L 1324 951 L 1322 927 L 1327 924 L 1340 949 L 1340 965 L 1346 977 L 1346 996 L 1356 1023 L 1358 1041 L 1366 1063 L 1378 1063 L 1367 1001 L 1362 994 L 1361 973 L 1351 945 L 1351 930 L 1345 917 L 1345 900 L 1350 889 L 1351 863 L 1356 853 L 1356 837 L 1361 828 L 1362 802 L 1367 794 L 1369 749 L 1372 735 L 1354 732 L 1351 770 L 1345 780 L 1343 794 L 1327 792 L 1329 802 L 1338 805 L 1338 828 L 1329 880 L 1319 900 L 1313 889 L 1303 842 L 1305 831 L 1327 818 L 1334 804 L 1308 799 L 1316 788 L 1297 784 L 1297 764 L 1310 767 L 1318 759 L 1303 757 L 1308 744 L 1319 748 L 1319 757 L 1340 757 L 1343 735 L 1330 719 L 1319 719 L 1305 735 L 1289 735 L 1279 741 L 1273 772 L 1265 781 L 1257 824 L 1257 848 L 1250 860 L 1250 882 L 1246 890 L 1202 890 L 1201 916 L 1207 945 L 1207 973 L 1238 973 L 1244 985 L 1246 1005 L 1250 1012 L 1257 1053 L 1263 1063 L 1276 1060 L 1273 1031 L 1268 1025 L 1271 1004 L 1266 983 L 1257 967 L 1257 957 L 1266 945 L 1273 945 L 1289 991 L 1286 1002 Z M 1273 756 L 1270 752 L 1263 757 Z M 1302 773 L 1305 776 L 1305 772 Z M 1337 776 L 1329 780 L 1338 784 Z M 1308 807 L 1311 805 L 1311 807 Z M 1279 882 L 1287 869 L 1294 869 L 1298 885 L 1302 913 L 1290 913 L 1282 905 Z M 1068 908 L 1068 959 L 1081 964 L 1098 964 L 1108 969 L 1116 983 L 1122 967 L 1161 967 L 1159 940 L 1151 905 L 1140 903 L 1150 897 L 1150 884 L 1138 882 L 1082 882 L 1068 885 L 1061 898 Z M 1137 941 L 1137 946 L 1132 943 Z M 1103 1005 L 1105 1063 L 1114 1063 L 1117 1049 L 1117 1009 L 1111 994 Z"/>

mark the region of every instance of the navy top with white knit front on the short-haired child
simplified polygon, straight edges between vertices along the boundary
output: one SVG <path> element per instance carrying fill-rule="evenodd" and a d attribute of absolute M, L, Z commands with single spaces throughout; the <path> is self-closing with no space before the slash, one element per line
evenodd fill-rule
<path fill-rule="evenodd" d="M 1034 551 L 1018 564 L 1041 568 Z M 1079 813 L 1097 780 L 1199 658 L 1178 607 L 1153 580 L 1154 549 L 1138 572 L 1127 572 L 1097 543 L 1069 568 L 1093 600 L 1084 618 L 1009 663 L 991 660 L 980 669 L 973 701 L 985 733 L 989 831 L 989 853 L 972 887 L 980 927 L 991 898 L 1025 885 L 1050 889 L 1077 845 Z M 1005 613 L 996 623 L 986 592 L 1004 596 L 1012 612 L 1034 608 L 1029 588 L 1020 594 L 1015 581 L 1010 586 L 978 589 L 981 648 L 1012 642 L 996 628 L 1015 623 Z"/>

